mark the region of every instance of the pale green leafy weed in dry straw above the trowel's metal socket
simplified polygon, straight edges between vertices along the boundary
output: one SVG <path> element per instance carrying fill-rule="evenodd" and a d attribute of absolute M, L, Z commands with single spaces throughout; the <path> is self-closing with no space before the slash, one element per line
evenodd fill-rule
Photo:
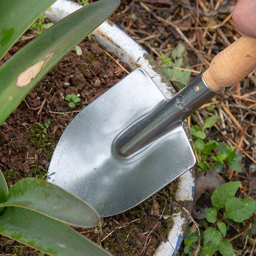
<path fill-rule="evenodd" d="M 176 50 L 172 51 L 171 58 L 166 58 L 163 52 L 160 52 L 162 57 L 162 69 L 164 74 L 168 77 L 168 79 L 172 82 L 176 82 L 180 88 L 183 88 L 186 84 L 188 84 L 190 80 L 190 71 L 184 71 L 174 68 L 181 68 L 183 65 L 182 54 L 185 51 L 185 46 L 183 44 L 179 44 Z M 189 69 L 189 65 L 186 66 L 186 69 Z"/>

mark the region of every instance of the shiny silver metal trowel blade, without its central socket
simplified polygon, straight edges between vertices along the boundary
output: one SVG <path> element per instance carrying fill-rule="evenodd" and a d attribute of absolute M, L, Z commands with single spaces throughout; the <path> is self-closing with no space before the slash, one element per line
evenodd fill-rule
<path fill-rule="evenodd" d="M 68 125 L 53 153 L 48 181 L 89 202 L 100 216 L 141 203 L 194 166 L 181 122 L 138 152 L 120 156 L 120 134 L 167 99 L 143 69 L 94 100 Z"/>

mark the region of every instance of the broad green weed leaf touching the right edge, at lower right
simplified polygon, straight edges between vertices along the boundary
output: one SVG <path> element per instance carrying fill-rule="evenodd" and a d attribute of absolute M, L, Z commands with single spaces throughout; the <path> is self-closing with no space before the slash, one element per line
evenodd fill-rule
<path fill-rule="evenodd" d="M 256 211 L 256 202 L 250 198 L 234 197 L 226 203 L 226 217 L 236 222 L 243 222 Z"/>

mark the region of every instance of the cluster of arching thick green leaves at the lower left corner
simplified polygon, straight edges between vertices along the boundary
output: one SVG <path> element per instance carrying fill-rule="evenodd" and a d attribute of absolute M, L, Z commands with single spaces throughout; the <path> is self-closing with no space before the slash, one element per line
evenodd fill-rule
<path fill-rule="evenodd" d="M 98 213 L 45 180 L 24 178 L 10 191 L 0 171 L 0 234 L 48 255 L 110 255 L 66 224 L 94 227 Z"/>

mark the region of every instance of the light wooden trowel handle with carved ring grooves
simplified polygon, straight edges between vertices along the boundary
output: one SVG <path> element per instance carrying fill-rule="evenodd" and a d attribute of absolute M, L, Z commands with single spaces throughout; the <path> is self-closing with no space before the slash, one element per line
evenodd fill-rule
<path fill-rule="evenodd" d="M 241 36 L 213 58 L 203 77 L 209 87 L 220 91 L 239 83 L 255 68 L 256 39 Z"/>

